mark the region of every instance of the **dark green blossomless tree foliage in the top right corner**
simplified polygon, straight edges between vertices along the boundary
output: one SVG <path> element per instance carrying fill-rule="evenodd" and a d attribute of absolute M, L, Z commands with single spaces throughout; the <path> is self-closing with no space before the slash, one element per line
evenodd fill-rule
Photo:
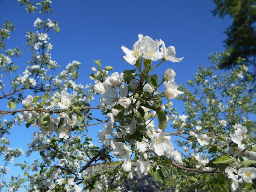
<path fill-rule="evenodd" d="M 238 65 L 237 58 L 245 58 L 245 64 L 256 71 L 256 1 L 255 0 L 213 0 L 216 8 L 214 16 L 229 16 L 232 24 L 225 31 L 224 40 L 228 54 L 220 64 L 221 69 L 231 69 Z"/>

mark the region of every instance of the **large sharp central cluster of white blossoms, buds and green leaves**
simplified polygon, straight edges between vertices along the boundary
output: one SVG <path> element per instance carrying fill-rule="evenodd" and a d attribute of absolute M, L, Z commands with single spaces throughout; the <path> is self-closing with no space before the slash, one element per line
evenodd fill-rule
<path fill-rule="evenodd" d="M 159 51 L 160 45 L 162 45 L 161 51 Z M 162 83 L 166 87 L 163 93 L 157 92 L 157 88 L 162 84 L 158 84 L 157 76 L 153 75 L 152 78 L 148 78 L 149 72 L 154 69 L 151 67 L 152 61 L 162 59 L 162 61 L 179 62 L 182 58 L 175 58 L 174 47 L 166 49 L 162 40 L 153 40 L 149 36 L 144 37 L 141 34 L 132 50 L 124 46 L 121 48 L 126 53 L 124 60 L 131 65 L 136 64 L 138 74 L 135 73 L 135 70 L 126 70 L 120 75 L 117 72 L 110 76 L 106 75 L 104 80 L 94 78 L 94 91 L 101 94 L 101 103 L 111 109 L 107 115 L 109 119 L 107 125 L 103 125 L 103 130 L 99 131 L 100 142 L 112 150 L 114 155 L 125 159 L 122 168 L 126 172 L 132 168 L 131 157 L 134 150 L 142 152 L 142 156 L 144 156 L 135 162 L 135 170 L 144 174 L 148 174 L 150 167 L 155 166 L 154 161 L 149 163 L 143 160 L 150 156 L 150 152 L 157 156 L 173 158 L 174 161 L 182 165 L 182 154 L 174 150 L 171 136 L 163 130 L 165 125 L 155 130 L 153 118 L 158 117 L 158 121 L 163 121 L 166 124 L 168 117 L 164 114 L 165 107 L 162 103 L 157 102 L 157 99 L 164 96 L 173 99 L 184 92 L 177 90 L 178 85 L 174 83 L 175 72 L 173 69 L 167 69 L 163 74 Z M 144 63 L 148 62 L 148 65 L 142 70 L 143 59 Z M 99 63 L 97 64 L 99 71 L 95 67 L 92 68 L 92 71 L 103 74 Z M 151 93 L 148 98 L 144 96 L 146 92 Z M 138 118 L 141 118 L 141 121 L 138 121 Z M 117 126 L 117 122 L 120 125 Z"/>

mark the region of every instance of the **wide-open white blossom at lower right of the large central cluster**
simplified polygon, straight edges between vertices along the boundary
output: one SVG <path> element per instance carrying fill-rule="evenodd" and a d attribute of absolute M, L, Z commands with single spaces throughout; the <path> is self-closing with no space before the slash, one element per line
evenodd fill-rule
<path fill-rule="evenodd" d="M 153 141 L 149 145 L 149 149 L 155 150 L 155 153 L 158 156 L 161 156 L 164 154 L 164 151 L 166 148 L 170 147 L 173 148 L 173 143 L 170 141 L 171 136 L 166 133 L 158 133 L 157 136 L 154 137 Z"/>

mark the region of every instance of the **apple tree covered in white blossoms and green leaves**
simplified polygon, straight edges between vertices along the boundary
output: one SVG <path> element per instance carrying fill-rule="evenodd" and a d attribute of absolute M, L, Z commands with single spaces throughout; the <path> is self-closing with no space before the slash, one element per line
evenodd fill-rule
<path fill-rule="evenodd" d="M 36 5 L 19 2 L 26 4 L 28 13 L 38 8 L 45 16 L 52 12 L 50 0 Z M 26 154 L 37 152 L 40 159 L 32 165 L 16 164 L 25 177 L 13 176 L 9 183 L 3 180 L 2 190 L 121 191 L 124 179 L 134 172 L 151 174 L 171 190 L 255 188 L 255 122 L 250 120 L 256 112 L 255 90 L 242 58 L 237 60 L 240 67 L 229 75 L 216 75 L 221 54 L 211 56 L 213 67 L 201 66 L 195 79 L 188 81 L 195 88 L 191 92 L 174 82 L 173 69 L 160 74 L 161 80 L 155 74 L 161 63 L 182 60 L 175 58 L 175 48 L 139 34 L 131 50 L 121 47 L 124 60 L 134 69 L 109 75 L 113 68 L 103 69 L 100 60 L 95 60 L 90 75 L 93 85 L 84 86 L 76 84 L 77 61 L 52 75 L 60 66 L 52 60 L 48 31 L 59 31 L 57 21 L 37 18 L 34 27 L 37 31 L 26 36 L 32 53 L 29 66 L 11 80 L 11 92 L 6 93 L 0 81 L 0 99 L 3 103 L 7 99 L 10 108 L 0 111 L 1 177 L 8 172 L 8 163 L 23 154 L 9 147 L 7 135 L 14 126 L 37 127 Z M 4 24 L 1 50 L 14 29 L 11 22 Z M 0 54 L 0 70 L 14 73 L 17 66 L 11 58 L 21 54 L 18 48 Z M 97 96 L 101 105 L 91 106 Z M 184 101 L 183 115 L 173 108 L 173 98 Z M 92 109 L 99 109 L 102 118 L 96 118 Z M 87 127 L 92 125 L 102 125 L 98 145 L 87 136 Z M 173 145 L 175 137 L 180 138 L 178 148 Z"/>

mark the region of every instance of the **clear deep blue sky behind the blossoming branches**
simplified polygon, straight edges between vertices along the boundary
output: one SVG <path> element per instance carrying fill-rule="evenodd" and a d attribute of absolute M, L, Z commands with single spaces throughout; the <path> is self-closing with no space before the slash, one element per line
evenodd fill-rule
<path fill-rule="evenodd" d="M 166 47 L 176 48 L 176 57 L 184 57 L 180 63 L 160 65 L 156 71 L 158 76 L 161 77 L 167 68 L 173 68 L 175 82 L 186 83 L 193 78 L 200 64 L 211 65 L 209 54 L 224 50 L 222 41 L 226 36 L 223 31 L 231 21 L 213 17 L 211 11 L 214 8 L 212 0 L 52 0 L 54 15 L 49 13 L 46 18 L 57 20 L 61 29 L 59 33 L 49 33 L 53 45 L 52 60 L 56 60 L 62 70 L 73 60 L 81 62 L 80 83 L 93 83 L 89 79 L 91 67 L 96 66 L 93 60 L 101 60 L 103 66 L 113 66 L 113 72 L 134 69 L 122 60 L 121 46 L 131 49 L 141 33 L 153 39 L 161 38 Z M 31 57 L 29 48 L 25 47 L 25 35 L 27 31 L 36 31 L 33 24 L 38 17 L 43 19 L 44 15 L 27 14 L 25 6 L 20 7 L 18 0 L 0 1 L 0 25 L 9 20 L 16 27 L 6 40 L 7 48 L 19 47 L 24 52 L 24 56 L 13 60 L 20 73 Z M 174 105 L 175 102 L 173 100 Z M 26 151 L 32 132 L 25 126 L 15 127 L 11 141 L 16 143 L 18 140 L 18 147 L 22 146 Z"/>

